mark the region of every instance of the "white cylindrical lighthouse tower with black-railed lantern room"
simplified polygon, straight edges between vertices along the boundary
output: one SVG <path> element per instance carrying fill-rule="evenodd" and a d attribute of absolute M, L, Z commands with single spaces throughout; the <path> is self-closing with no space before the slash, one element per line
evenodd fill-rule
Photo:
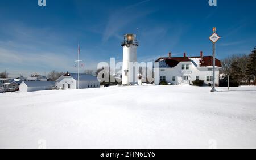
<path fill-rule="evenodd" d="M 125 34 L 121 45 L 123 47 L 122 85 L 135 84 L 137 73 L 134 73 L 134 68 L 131 64 L 137 62 L 137 47 L 139 46 L 137 35 Z"/>

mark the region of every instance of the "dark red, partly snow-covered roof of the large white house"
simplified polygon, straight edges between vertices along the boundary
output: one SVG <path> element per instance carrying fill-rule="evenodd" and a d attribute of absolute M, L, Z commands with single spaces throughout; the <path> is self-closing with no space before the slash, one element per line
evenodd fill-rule
<path fill-rule="evenodd" d="M 166 60 L 166 64 L 168 64 L 170 67 L 175 67 L 177 66 L 177 64 L 179 64 L 179 62 L 191 62 L 191 60 L 189 58 L 201 58 L 200 56 L 198 57 L 162 57 L 162 58 L 158 58 L 158 60 L 156 60 L 155 62 L 160 62 L 162 60 Z M 212 56 L 204 56 L 202 59 L 202 62 L 200 67 L 208 67 L 208 66 L 212 66 Z M 217 67 L 222 67 L 221 66 L 221 61 L 218 60 L 216 58 L 216 62 L 215 62 Z"/>

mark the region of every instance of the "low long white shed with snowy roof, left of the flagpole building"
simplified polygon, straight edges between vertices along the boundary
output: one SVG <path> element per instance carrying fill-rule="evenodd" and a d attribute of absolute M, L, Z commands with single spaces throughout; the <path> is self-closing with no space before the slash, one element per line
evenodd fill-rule
<path fill-rule="evenodd" d="M 22 81 L 19 85 L 19 92 L 52 90 L 53 87 L 55 87 L 54 81 Z"/>

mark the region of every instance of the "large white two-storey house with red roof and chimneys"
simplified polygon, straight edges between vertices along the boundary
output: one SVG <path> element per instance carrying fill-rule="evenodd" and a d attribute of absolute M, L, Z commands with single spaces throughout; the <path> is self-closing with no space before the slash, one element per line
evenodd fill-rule
<path fill-rule="evenodd" d="M 161 81 L 166 81 L 171 84 L 193 84 L 194 80 L 204 80 L 204 83 L 209 85 L 213 81 L 213 65 L 212 56 L 203 56 L 201 52 L 199 57 L 169 57 L 159 58 L 158 62 L 159 76 L 155 77 L 155 85 Z M 221 62 L 216 59 L 216 85 L 219 84 Z"/>

